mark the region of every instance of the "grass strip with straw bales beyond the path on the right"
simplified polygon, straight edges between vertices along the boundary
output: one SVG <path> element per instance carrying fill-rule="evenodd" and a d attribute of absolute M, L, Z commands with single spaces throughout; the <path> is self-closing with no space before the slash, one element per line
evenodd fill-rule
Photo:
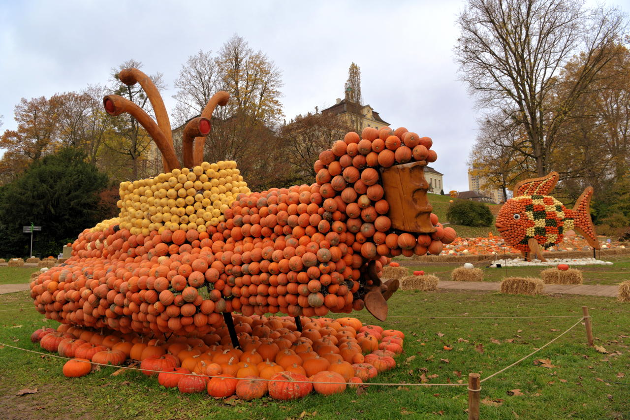
<path fill-rule="evenodd" d="M 483 281 L 502 281 L 505 277 L 541 277 L 541 271 L 548 267 L 503 267 L 490 268 L 488 262 L 476 264 L 483 270 Z M 407 262 L 404 266 L 410 275 L 415 270 L 423 270 L 427 274 L 435 274 L 440 280 L 450 280 L 450 272 L 462 263 L 451 264 L 421 264 Z M 584 284 L 619 284 L 630 279 L 630 262 L 615 262 L 613 265 L 575 265 L 573 268 L 582 271 Z"/>

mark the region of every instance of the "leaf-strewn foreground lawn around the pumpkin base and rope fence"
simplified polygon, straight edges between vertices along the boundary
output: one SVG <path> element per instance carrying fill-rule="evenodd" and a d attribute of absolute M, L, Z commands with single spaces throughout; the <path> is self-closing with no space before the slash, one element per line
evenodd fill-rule
<path fill-rule="evenodd" d="M 377 382 L 457 383 L 469 372 L 482 378 L 541 347 L 573 325 L 588 305 L 595 343 L 585 344 L 582 325 L 520 365 L 482 384 L 484 419 L 628 419 L 630 412 L 630 305 L 587 296 L 512 296 L 478 292 L 397 292 L 390 317 L 364 322 L 402 330 L 405 353 L 399 366 Z M 0 296 L 0 341 L 38 349 L 33 330 L 56 322 L 31 308 L 26 292 Z M 26 309 L 11 311 L 11 308 Z M 474 316 L 575 315 L 573 318 L 466 319 Z M 415 318 L 428 316 L 457 318 Z M 444 346 L 452 347 L 447 351 Z M 548 359 L 549 368 L 537 359 Z M 181 395 L 156 380 L 126 371 L 112 376 L 103 368 L 84 378 L 61 374 L 63 361 L 4 347 L 0 349 L 0 412 L 13 418 L 211 418 L 211 419 L 462 419 L 466 387 L 369 387 L 332 397 L 311 394 L 295 402 L 214 400 L 205 394 Z M 434 376 L 435 375 L 435 376 Z M 23 388 L 35 394 L 16 396 Z M 511 390 L 518 390 L 512 392 Z M 522 394 L 522 395 L 520 395 Z M 315 413 L 315 414 L 314 414 Z M 443 417 L 439 417 L 443 415 Z M 518 416 L 518 417 L 517 417 Z"/>

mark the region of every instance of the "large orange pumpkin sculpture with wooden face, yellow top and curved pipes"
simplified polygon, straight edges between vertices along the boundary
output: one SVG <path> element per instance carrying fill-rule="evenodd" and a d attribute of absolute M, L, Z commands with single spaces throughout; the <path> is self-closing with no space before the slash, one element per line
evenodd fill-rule
<path fill-rule="evenodd" d="M 227 93 L 186 125 L 180 168 L 151 80 L 137 69 L 120 80 L 142 85 L 157 124 L 117 95 L 105 96 L 105 110 L 144 126 L 165 173 L 120 184 L 119 217 L 84 230 L 65 264 L 31 282 L 48 318 L 178 335 L 203 335 L 225 320 L 235 347 L 230 312 L 312 317 L 365 307 L 384 320 L 398 279 L 382 282 L 382 266 L 396 255 L 439 254 L 455 239 L 427 202 L 423 170 L 437 158 L 428 137 L 389 127 L 349 132 L 320 153 L 315 184 L 250 192 L 236 162 L 202 161 L 212 111 Z M 357 363 L 360 351 L 350 346 L 342 359 Z"/>

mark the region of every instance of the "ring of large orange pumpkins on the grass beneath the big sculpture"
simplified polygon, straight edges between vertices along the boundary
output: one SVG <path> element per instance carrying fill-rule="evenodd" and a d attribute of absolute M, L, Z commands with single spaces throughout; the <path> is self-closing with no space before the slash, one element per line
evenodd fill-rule
<path fill-rule="evenodd" d="M 73 358 L 63 368 L 68 377 L 87 375 L 91 363 L 140 361 L 142 373 L 163 387 L 217 398 L 236 394 L 244 400 L 267 392 L 275 399 L 297 399 L 313 389 L 338 394 L 391 370 L 394 356 L 403 351 L 403 332 L 362 325 L 357 318 L 302 317 L 302 332 L 291 317 L 238 315 L 233 320 L 241 349 L 232 347 L 224 324 L 205 335 L 172 335 L 166 341 L 62 324 L 33 332 L 31 341 Z"/>

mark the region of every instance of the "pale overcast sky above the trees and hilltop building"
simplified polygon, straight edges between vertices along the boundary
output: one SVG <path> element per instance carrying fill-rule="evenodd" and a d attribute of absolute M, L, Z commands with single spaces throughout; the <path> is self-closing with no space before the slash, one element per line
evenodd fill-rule
<path fill-rule="evenodd" d="M 228 4 L 230 3 L 230 4 Z M 630 0 L 608 1 L 626 12 Z M 173 81 L 198 50 L 234 33 L 282 70 L 287 120 L 343 98 L 348 67 L 361 69 L 364 102 L 391 127 L 433 139 L 444 190 L 467 190 L 478 112 L 457 79 L 455 19 L 464 1 L 13 1 L 0 0 L 0 131 L 14 129 L 20 98 L 109 82 L 135 59 Z M 1 153 L 1 152 L 0 152 Z"/>

